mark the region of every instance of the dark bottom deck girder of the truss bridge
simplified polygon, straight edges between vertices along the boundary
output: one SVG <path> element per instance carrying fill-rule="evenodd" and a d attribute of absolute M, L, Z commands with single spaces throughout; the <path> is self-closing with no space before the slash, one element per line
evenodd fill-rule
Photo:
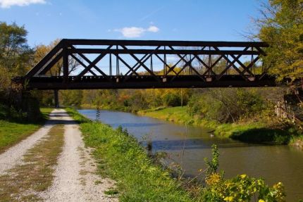
<path fill-rule="evenodd" d="M 205 77 L 202 81 L 198 76 L 183 75 L 162 77 L 159 80 L 148 75 L 132 76 L 130 78 L 120 76 L 95 77 L 85 76 L 68 77 L 64 82 L 63 77 L 33 77 L 27 83 L 27 89 L 153 89 L 153 88 L 211 88 L 211 87 L 276 87 L 275 77 L 264 76 L 262 80 L 243 80 L 239 75 L 225 75 L 221 80 L 213 77 Z"/>

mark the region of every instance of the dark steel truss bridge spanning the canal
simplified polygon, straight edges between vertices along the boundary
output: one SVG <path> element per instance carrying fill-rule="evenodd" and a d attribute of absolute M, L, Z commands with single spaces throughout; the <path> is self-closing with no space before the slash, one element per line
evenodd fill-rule
<path fill-rule="evenodd" d="M 258 65 L 266 47 L 264 42 L 62 39 L 14 80 L 26 89 L 276 86 L 275 77 Z"/>

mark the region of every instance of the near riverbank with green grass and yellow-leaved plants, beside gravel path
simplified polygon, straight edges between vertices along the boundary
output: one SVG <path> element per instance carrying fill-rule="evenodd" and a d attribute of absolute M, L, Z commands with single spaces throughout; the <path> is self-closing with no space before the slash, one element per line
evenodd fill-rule
<path fill-rule="evenodd" d="M 263 179 L 247 175 L 224 179 L 221 172 L 216 171 L 218 151 L 213 151 L 212 158 L 206 160 L 209 168 L 199 171 L 197 176 L 197 179 L 206 179 L 206 184 L 193 183 L 194 179 L 173 175 L 171 170 L 156 163 L 154 156 L 151 158 L 137 139 L 122 127 L 113 129 L 101 122 L 87 120 L 73 109 L 67 111 L 78 120 L 85 146 L 94 149 L 98 173 L 117 182 L 116 189 L 108 193 L 118 195 L 119 201 L 243 201 L 254 196 L 266 201 L 283 199 L 281 183 L 268 187 Z M 173 165 L 182 169 L 177 162 Z M 257 184 L 256 187 L 249 185 L 251 183 Z M 249 194 L 243 195 L 242 189 L 248 190 Z M 260 194 L 261 190 L 266 191 Z"/>

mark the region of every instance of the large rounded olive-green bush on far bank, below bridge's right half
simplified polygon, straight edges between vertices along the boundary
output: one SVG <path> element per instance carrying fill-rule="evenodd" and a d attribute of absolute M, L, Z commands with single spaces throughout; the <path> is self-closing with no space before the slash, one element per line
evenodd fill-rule
<path fill-rule="evenodd" d="M 188 113 L 206 120 L 235 122 L 264 110 L 259 94 L 250 89 L 214 89 L 190 97 Z"/>

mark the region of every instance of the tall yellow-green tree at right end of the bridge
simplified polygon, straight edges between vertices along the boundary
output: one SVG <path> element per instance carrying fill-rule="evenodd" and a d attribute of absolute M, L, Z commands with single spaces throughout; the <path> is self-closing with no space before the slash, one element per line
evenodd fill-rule
<path fill-rule="evenodd" d="M 264 66 L 278 80 L 303 77 L 303 0 L 269 0 L 256 20 L 259 39 L 268 42 Z"/>

